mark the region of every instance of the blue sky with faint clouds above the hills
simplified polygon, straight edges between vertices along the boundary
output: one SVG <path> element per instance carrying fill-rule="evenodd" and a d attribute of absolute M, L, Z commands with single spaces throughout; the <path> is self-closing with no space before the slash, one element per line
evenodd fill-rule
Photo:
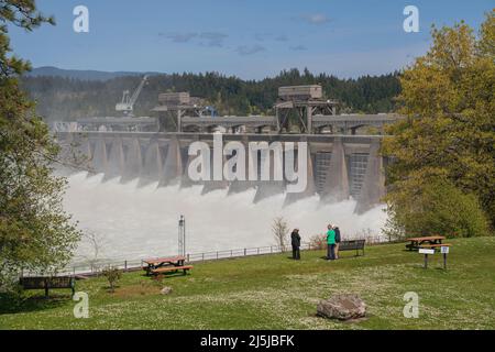
<path fill-rule="evenodd" d="M 11 29 L 14 52 L 35 67 L 210 72 L 260 79 L 308 67 L 339 77 L 399 69 L 429 44 L 432 23 L 479 28 L 493 0 L 37 0 L 57 25 Z M 89 33 L 73 9 L 89 9 Z M 419 9 L 419 33 L 403 10 Z"/>

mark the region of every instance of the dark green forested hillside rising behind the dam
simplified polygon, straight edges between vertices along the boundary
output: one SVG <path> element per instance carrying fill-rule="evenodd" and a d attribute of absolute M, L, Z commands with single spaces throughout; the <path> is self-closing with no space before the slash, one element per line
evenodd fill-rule
<path fill-rule="evenodd" d="M 23 77 L 22 87 L 37 101 L 37 112 L 47 121 L 70 121 L 81 117 L 118 116 L 116 103 L 123 90 L 134 90 L 141 77 L 118 77 L 86 81 L 63 77 Z M 287 85 L 320 84 L 327 98 L 342 102 L 343 112 L 389 112 L 399 94 L 398 74 L 358 79 L 339 79 L 308 70 L 284 70 L 263 80 L 242 80 L 217 73 L 156 75 L 148 79 L 135 105 L 136 116 L 150 116 L 160 92 L 189 91 L 205 98 L 220 114 L 268 114 L 277 88 Z"/>

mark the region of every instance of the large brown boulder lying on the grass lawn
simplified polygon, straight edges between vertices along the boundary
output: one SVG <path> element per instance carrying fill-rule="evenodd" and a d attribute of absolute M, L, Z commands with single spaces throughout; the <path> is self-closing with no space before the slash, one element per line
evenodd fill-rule
<path fill-rule="evenodd" d="M 328 319 L 361 319 L 366 316 L 366 304 L 358 295 L 334 295 L 320 300 L 317 315 Z"/>

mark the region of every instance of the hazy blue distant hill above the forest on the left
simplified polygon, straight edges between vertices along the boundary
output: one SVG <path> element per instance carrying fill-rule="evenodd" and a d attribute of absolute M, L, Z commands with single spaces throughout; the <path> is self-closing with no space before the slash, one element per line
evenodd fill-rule
<path fill-rule="evenodd" d="M 25 76 L 29 77 L 62 77 L 73 78 L 79 80 L 110 80 L 113 78 L 125 76 L 143 76 L 143 75 L 157 75 L 157 73 L 131 73 L 131 72 L 116 72 L 108 73 L 102 70 L 87 70 L 87 69 L 63 69 L 52 66 L 36 67 Z"/>

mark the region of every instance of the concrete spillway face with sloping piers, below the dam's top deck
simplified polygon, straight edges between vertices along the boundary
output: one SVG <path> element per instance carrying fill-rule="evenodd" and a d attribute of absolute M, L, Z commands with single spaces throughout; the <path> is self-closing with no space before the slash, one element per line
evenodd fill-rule
<path fill-rule="evenodd" d="M 196 141 L 212 146 L 212 133 L 57 132 L 56 136 L 63 150 L 77 151 L 82 156 L 84 168 L 105 174 L 105 179 L 121 177 L 121 183 L 129 183 L 139 178 L 141 186 L 158 183 L 158 187 L 179 184 L 186 188 L 200 184 L 202 194 L 228 189 L 231 195 L 255 188 L 254 202 L 286 191 L 286 180 L 193 182 L 187 175 L 191 162 L 188 147 Z M 222 138 L 224 143 L 237 141 L 246 148 L 251 142 L 307 143 L 306 189 L 287 193 L 286 205 L 315 195 L 319 195 L 321 202 L 352 197 L 356 200 L 354 211 L 362 213 L 381 204 L 385 195 L 387 161 L 380 155 L 381 135 L 224 133 Z M 295 158 L 297 164 L 297 151 Z"/>

